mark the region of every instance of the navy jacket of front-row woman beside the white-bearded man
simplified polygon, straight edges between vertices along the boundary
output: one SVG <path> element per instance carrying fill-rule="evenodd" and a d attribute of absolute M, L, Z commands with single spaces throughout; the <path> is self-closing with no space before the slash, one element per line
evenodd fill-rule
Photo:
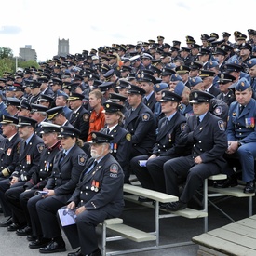
<path fill-rule="evenodd" d="M 57 153 L 51 176 L 48 178 L 46 188 L 54 189 L 54 198 L 66 204 L 74 192 L 81 172 L 85 168 L 88 156 L 76 144 L 62 160 L 62 153 Z"/>

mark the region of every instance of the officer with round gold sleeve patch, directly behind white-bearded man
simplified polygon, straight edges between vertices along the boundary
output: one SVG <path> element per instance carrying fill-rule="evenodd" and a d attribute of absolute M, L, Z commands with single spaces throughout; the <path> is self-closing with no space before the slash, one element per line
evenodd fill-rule
<path fill-rule="evenodd" d="M 129 154 L 131 151 L 131 135 L 122 128 L 125 115 L 122 113 L 123 106 L 115 102 L 107 101 L 103 104 L 106 127 L 101 129 L 113 137 L 110 143 L 111 155 L 115 157 L 124 173 L 128 172 Z"/>

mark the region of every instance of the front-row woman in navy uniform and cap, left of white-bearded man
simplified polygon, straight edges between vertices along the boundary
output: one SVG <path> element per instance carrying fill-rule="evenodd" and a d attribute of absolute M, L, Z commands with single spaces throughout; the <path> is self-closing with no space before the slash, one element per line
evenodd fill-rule
<path fill-rule="evenodd" d="M 41 253 L 66 250 L 56 213 L 74 192 L 88 160 L 88 156 L 76 145 L 80 131 L 67 126 L 61 127 L 60 131 L 63 149 L 54 158 L 52 174 L 43 189 L 47 195 L 35 195 L 28 201 L 33 236 L 37 238 L 30 248 L 40 248 Z"/>

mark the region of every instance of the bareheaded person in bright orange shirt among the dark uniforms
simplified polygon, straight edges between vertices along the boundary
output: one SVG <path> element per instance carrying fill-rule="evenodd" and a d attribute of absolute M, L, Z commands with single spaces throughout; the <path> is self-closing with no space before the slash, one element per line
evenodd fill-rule
<path fill-rule="evenodd" d="M 91 114 L 89 117 L 89 130 L 88 130 L 88 140 L 91 141 L 91 132 L 99 131 L 105 125 L 105 114 L 102 113 L 104 110 L 101 105 L 102 94 L 99 89 L 94 89 L 89 93 L 89 106 L 91 108 Z"/>

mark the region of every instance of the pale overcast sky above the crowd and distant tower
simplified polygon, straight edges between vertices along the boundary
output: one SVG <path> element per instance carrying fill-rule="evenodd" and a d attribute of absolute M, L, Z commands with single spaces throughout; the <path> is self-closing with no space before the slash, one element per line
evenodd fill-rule
<path fill-rule="evenodd" d="M 200 35 L 212 32 L 221 39 L 228 32 L 234 42 L 234 31 L 256 30 L 255 8 L 255 0 L 8 0 L 1 3 L 0 47 L 18 56 L 31 45 L 37 61 L 47 61 L 57 55 L 59 39 L 69 39 L 71 54 L 158 35 L 182 47 L 186 35 L 201 44 Z"/>

